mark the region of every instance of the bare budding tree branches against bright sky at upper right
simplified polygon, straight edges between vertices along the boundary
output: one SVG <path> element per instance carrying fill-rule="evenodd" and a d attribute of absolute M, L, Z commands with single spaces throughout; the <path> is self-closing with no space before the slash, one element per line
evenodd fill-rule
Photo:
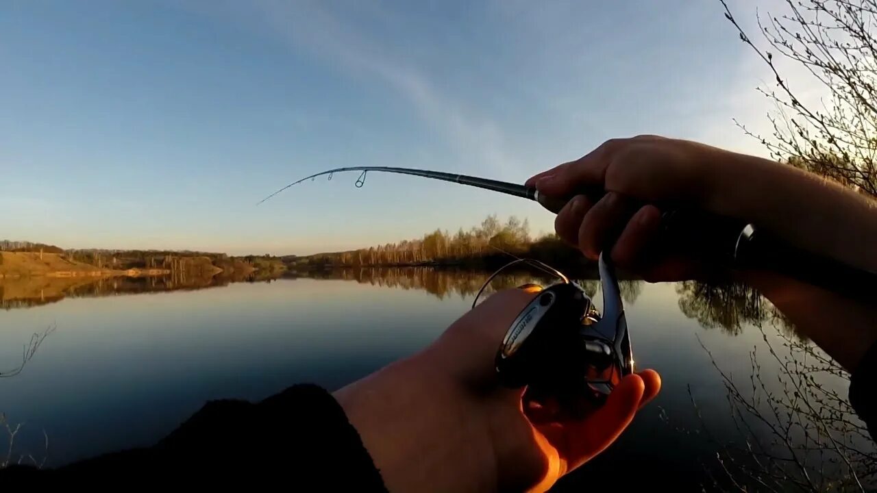
<path fill-rule="evenodd" d="M 785 12 L 758 16 L 766 47 L 719 2 L 776 83 L 759 88 L 776 107 L 768 114 L 773 139 L 736 123 L 778 161 L 877 196 L 877 0 L 786 0 Z M 789 80 L 780 60 L 805 68 L 809 80 Z M 809 102 L 801 82 L 815 82 L 825 96 Z"/>

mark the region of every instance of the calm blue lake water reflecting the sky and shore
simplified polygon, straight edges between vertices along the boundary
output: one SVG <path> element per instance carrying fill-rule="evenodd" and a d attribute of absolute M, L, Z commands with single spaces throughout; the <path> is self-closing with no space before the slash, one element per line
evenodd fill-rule
<path fill-rule="evenodd" d="M 17 452 L 45 455 L 45 430 L 46 463 L 60 465 L 151 444 L 209 399 L 260 399 L 296 382 L 337 389 L 429 344 L 467 311 L 485 275 L 396 269 L 342 277 L 128 294 L 149 289 L 80 286 L 48 301 L 34 293 L 31 303 L 4 299 L 0 371 L 18 364 L 32 332 L 57 327 L 20 375 L 0 379 L 0 411 L 25 423 Z M 761 333 L 740 323 L 743 305 L 677 284 L 623 288 L 638 366 L 657 369 L 664 388 L 623 439 L 561 486 L 623 482 L 637 471 L 695 487 L 715 446 L 695 432 L 701 423 L 688 388 L 718 437 L 729 417 L 698 337 L 720 366 L 748 375 Z M 122 296 L 99 296 L 108 292 Z"/>

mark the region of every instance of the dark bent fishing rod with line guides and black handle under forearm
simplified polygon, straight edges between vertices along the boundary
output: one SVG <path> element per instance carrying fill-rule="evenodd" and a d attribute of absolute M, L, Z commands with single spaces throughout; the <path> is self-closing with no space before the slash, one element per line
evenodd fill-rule
<path fill-rule="evenodd" d="M 573 196 L 545 196 L 535 187 L 479 176 L 455 175 L 414 168 L 354 166 L 329 169 L 305 176 L 263 198 L 258 204 L 298 183 L 314 180 L 317 176 L 323 175 L 329 175 L 329 179 L 332 180 L 332 175 L 335 173 L 346 171 L 360 172 L 355 182 L 357 188 L 365 184 L 369 171 L 422 176 L 488 189 L 505 195 L 520 196 L 541 204 L 555 214 L 573 198 Z M 595 203 L 605 192 L 602 189 L 586 189 L 581 190 L 580 193 L 588 196 Z M 660 231 L 661 238 L 656 247 L 668 253 L 690 255 L 704 261 L 717 262 L 724 268 L 734 270 L 770 271 L 828 289 L 845 297 L 873 301 L 877 273 L 854 268 L 844 262 L 794 247 L 769 232 L 759 230 L 757 225 L 703 211 L 668 207 L 662 214 Z"/>

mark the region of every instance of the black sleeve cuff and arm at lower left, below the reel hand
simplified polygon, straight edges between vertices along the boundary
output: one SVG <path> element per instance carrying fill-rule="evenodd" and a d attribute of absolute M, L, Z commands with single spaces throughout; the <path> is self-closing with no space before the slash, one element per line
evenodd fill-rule
<path fill-rule="evenodd" d="M 344 410 L 315 385 L 296 385 L 258 404 L 210 402 L 153 447 L 48 471 L 12 468 L 4 473 L 127 476 L 146 482 L 162 477 L 199 482 L 243 479 L 251 486 L 303 491 L 386 491 Z"/>

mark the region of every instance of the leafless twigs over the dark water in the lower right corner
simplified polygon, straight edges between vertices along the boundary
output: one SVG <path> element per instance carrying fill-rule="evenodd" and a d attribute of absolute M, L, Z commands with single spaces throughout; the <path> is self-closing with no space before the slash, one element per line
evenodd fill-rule
<path fill-rule="evenodd" d="M 781 347 L 760 329 L 767 360 L 750 353 L 751 373 L 722 376 L 738 439 L 719 443 L 708 467 L 713 487 L 734 491 L 872 491 L 877 450 L 845 395 L 849 375 L 807 340 L 778 331 Z M 694 398 L 692 402 L 695 404 Z M 705 425 L 704 425 L 705 427 Z M 710 433 L 707 433 L 710 436 Z"/>

